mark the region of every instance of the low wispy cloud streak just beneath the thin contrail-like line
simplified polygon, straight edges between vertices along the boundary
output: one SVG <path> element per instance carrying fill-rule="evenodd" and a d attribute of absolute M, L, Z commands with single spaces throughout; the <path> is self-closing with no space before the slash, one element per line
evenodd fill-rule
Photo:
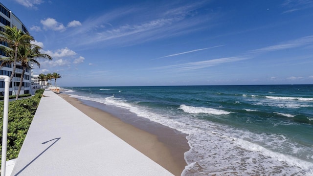
<path fill-rule="evenodd" d="M 219 59 L 212 59 L 206 61 L 198 61 L 198 62 L 190 62 L 178 65 L 171 65 L 171 66 L 160 66 L 155 67 L 152 69 L 162 69 L 162 70 L 169 70 L 169 71 L 187 71 L 187 70 L 196 70 L 201 68 L 206 68 L 210 66 L 217 66 L 225 63 L 232 63 L 241 60 L 249 59 L 247 57 L 226 57 L 226 58 L 219 58 Z"/>

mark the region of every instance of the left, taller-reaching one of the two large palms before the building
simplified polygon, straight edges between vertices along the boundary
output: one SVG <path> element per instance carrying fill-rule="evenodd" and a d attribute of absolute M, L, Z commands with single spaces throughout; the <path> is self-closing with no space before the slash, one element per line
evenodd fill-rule
<path fill-rule="evenodd" d="M 0 42 L 6 42 L 9 48 L 12 48 L 12 50 L 14 50 L 13 68 L 10 76 L 11 81 L 15 74 L 16 63 L 18 62 L 19 46 L 31 45 L 31 41 L 35 41 L 34 38 L 30 36 L 29 33 L 23 33 L 23 31 L 17 29 L 16 26 L 4 26 L 4 32 L 0 31 Z M 6 50 L 4 50 L 4 52 L 6 52 Z M 13 53 L 11 53 L 11 51 L 8 52 L 8 54 L 6 53 L 7 55 L 13 56 Z"/>

